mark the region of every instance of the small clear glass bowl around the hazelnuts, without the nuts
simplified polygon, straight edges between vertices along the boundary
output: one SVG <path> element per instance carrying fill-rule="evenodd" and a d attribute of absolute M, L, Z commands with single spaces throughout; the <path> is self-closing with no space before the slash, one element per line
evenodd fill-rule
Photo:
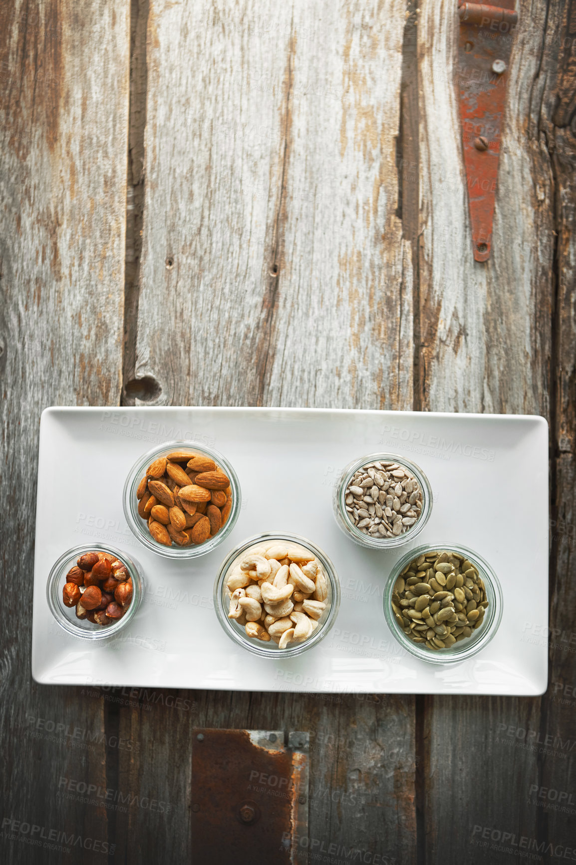
<path fill-rule="evenodd" d="M 130 573 L 132 580 L 132 599 L 128 610 L 122 618 L 118 618 L 112 625 L 96 625 L 89 622 L 87 618 L 77 618 L 76 608 L 74 606 L 64 606 L 62 602 L 62 589 L 66 585 L 66 574 L 71 567 L 74 567 L 76 560 L 84 553 L 101 552 L 108 553 L 114 559 L 123 562 Z M 110 547 L 108 544 L 95 543 L 83 544 L 81 547 L 73 547 L 62 554 L 60 559 L 54 563 L 52 570 L 48 576 L 46 585 L 46 594 L 48 598 L 48 606 L 54 619 L 61 626 L 63 631 L 72 634 L 73 637 L 80 637 L 86 640 L 102 640 L 109 637 L 114 637 L 118 631 L 131 622 L 132 618 L 138 612 L 138 607 L 144 595 L 144 580 L 138 564 L 126 555 L 122 550 Z"/>

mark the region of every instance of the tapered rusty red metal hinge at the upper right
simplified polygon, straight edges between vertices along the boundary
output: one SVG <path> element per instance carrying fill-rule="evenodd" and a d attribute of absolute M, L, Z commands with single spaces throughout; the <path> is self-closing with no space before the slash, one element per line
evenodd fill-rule
<path fill-rule="evenodd" d="M 474 258 L 490 258 L 515 0 L 458 0 L 458 101 Z"/>

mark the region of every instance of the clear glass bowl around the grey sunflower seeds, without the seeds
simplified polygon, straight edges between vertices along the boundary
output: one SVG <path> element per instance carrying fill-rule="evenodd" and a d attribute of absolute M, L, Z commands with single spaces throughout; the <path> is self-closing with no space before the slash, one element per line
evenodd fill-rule
<path fill-rule="evenodd" d="M 419 488 L 422 492 L 422 510 L 419 518 L 413 526 L 402 535 L 396 535 L 394 537 L 365 535 L 364 532 L 362 532 L 361 529 L 357 529 L 354 523 L 349 519 L 345 502 L 348 484 L 355 472 L 362 469 L 362 466 L 367 463 L 376 462 L 393 462 L 398 463 L 400 466 L 405 466 L 419 483 Z M 338 527 L 342 529 L 344 535 L 347 535 L 352 541 L 355 541 L 355 543 L 359 544 L 361 547 L 367 547 L 368 549 L 393 549 L 394 547 L 401 547 L 403 544 L 413 541 L 426 526 L 426 522 L 428 522 L 432 513 L 432 487 L 419 465 L 416 465 L 405 457 L 401 457 L 400 454 L 369 453 L 366 457 L 355 459 L 354 462 L 349 463 L 344 471 L 342 471 L 342 477 L 340 478 L 334 493 L 333 506 L 334 516 L 336 517 Z"/>

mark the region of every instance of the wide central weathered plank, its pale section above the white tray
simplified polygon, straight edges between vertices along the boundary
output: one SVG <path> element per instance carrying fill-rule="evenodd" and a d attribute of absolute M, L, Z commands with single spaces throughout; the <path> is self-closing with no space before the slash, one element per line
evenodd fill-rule
<path fill-rule="evenodd" d="M 158 402 L 412 405 L 404 8 L 150 3 L 136 371 Z"/>

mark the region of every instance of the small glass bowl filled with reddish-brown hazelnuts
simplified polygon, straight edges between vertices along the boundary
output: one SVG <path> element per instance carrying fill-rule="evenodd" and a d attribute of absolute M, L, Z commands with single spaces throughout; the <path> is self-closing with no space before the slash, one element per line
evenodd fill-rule
<path fill-rule="evenodd" d="M 144 586 L 138 565 L 113 547 L 74 547 L 48 576 L 48 606 L 74 637 L 103 639 L 125 628 L 138 611 Z"/>

